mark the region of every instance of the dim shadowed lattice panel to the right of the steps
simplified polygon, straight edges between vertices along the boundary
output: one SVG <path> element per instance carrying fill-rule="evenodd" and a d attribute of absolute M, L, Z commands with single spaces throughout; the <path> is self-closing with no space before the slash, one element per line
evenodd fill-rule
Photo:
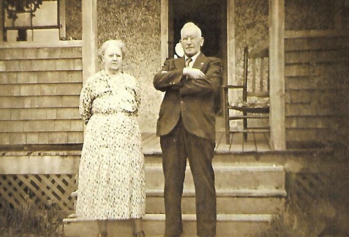
<path fill-rule="evenodd" d="M 291 178 L 290 196 L 296 198 L 300 206 L 309 206 L 328 195 L 330 182 L 327 174 L 298 173 L 292 174 Z"/>

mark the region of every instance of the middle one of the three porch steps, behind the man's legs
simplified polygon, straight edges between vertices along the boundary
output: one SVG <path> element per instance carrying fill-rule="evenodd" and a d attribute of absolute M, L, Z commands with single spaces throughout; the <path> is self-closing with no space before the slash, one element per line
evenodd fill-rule
<path fill-rule="evenodd" d="M 219 214 L 273 214 L 285 204 L 284 190 L 216 190 Z M 183 214 L 195 214 L 195 190 L 185 190 Z M 146 213 L 163 214 L 163 190 L 147 190 Z"/>

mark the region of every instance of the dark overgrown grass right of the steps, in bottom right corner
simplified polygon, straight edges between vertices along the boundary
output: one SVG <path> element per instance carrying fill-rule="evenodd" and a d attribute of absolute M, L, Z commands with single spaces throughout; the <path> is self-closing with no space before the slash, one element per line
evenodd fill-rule
<path fill-rule="evenodd" d="M 332 185 L 325 195 L 308 201 L 296 195 L 289 196 L 285 208 L 274 215 L 259 237 L 349 236 L 349 182 L 348 178 L 343 178 L 347 173 L 336 173 L 339 175 L 332 176 Z"/>

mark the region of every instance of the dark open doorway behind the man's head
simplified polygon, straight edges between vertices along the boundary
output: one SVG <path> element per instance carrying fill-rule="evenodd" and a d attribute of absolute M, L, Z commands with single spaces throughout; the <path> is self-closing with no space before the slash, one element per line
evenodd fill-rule
<path fill-rule="evenodd" d="M 225 59 L 227 1 L 169 0 L 169 56 L 181 38 L 181 27 L 186 22 L 197 24 L 205 39 L 202 52 L 206 56 Z M 225 60 L 224 60 L 225 61 Z"/>

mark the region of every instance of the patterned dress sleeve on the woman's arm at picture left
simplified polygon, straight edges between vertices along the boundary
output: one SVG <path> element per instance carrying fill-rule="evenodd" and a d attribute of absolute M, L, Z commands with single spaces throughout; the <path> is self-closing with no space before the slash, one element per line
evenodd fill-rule
<path fill-rule="evenodd" d="M 92 116 L 92 103 L 94 102 L 94 92 L 91 87 L 91 80 L 82 87 L 80 93 L 79 112 L 85 124 L 89 122 Z"/>

